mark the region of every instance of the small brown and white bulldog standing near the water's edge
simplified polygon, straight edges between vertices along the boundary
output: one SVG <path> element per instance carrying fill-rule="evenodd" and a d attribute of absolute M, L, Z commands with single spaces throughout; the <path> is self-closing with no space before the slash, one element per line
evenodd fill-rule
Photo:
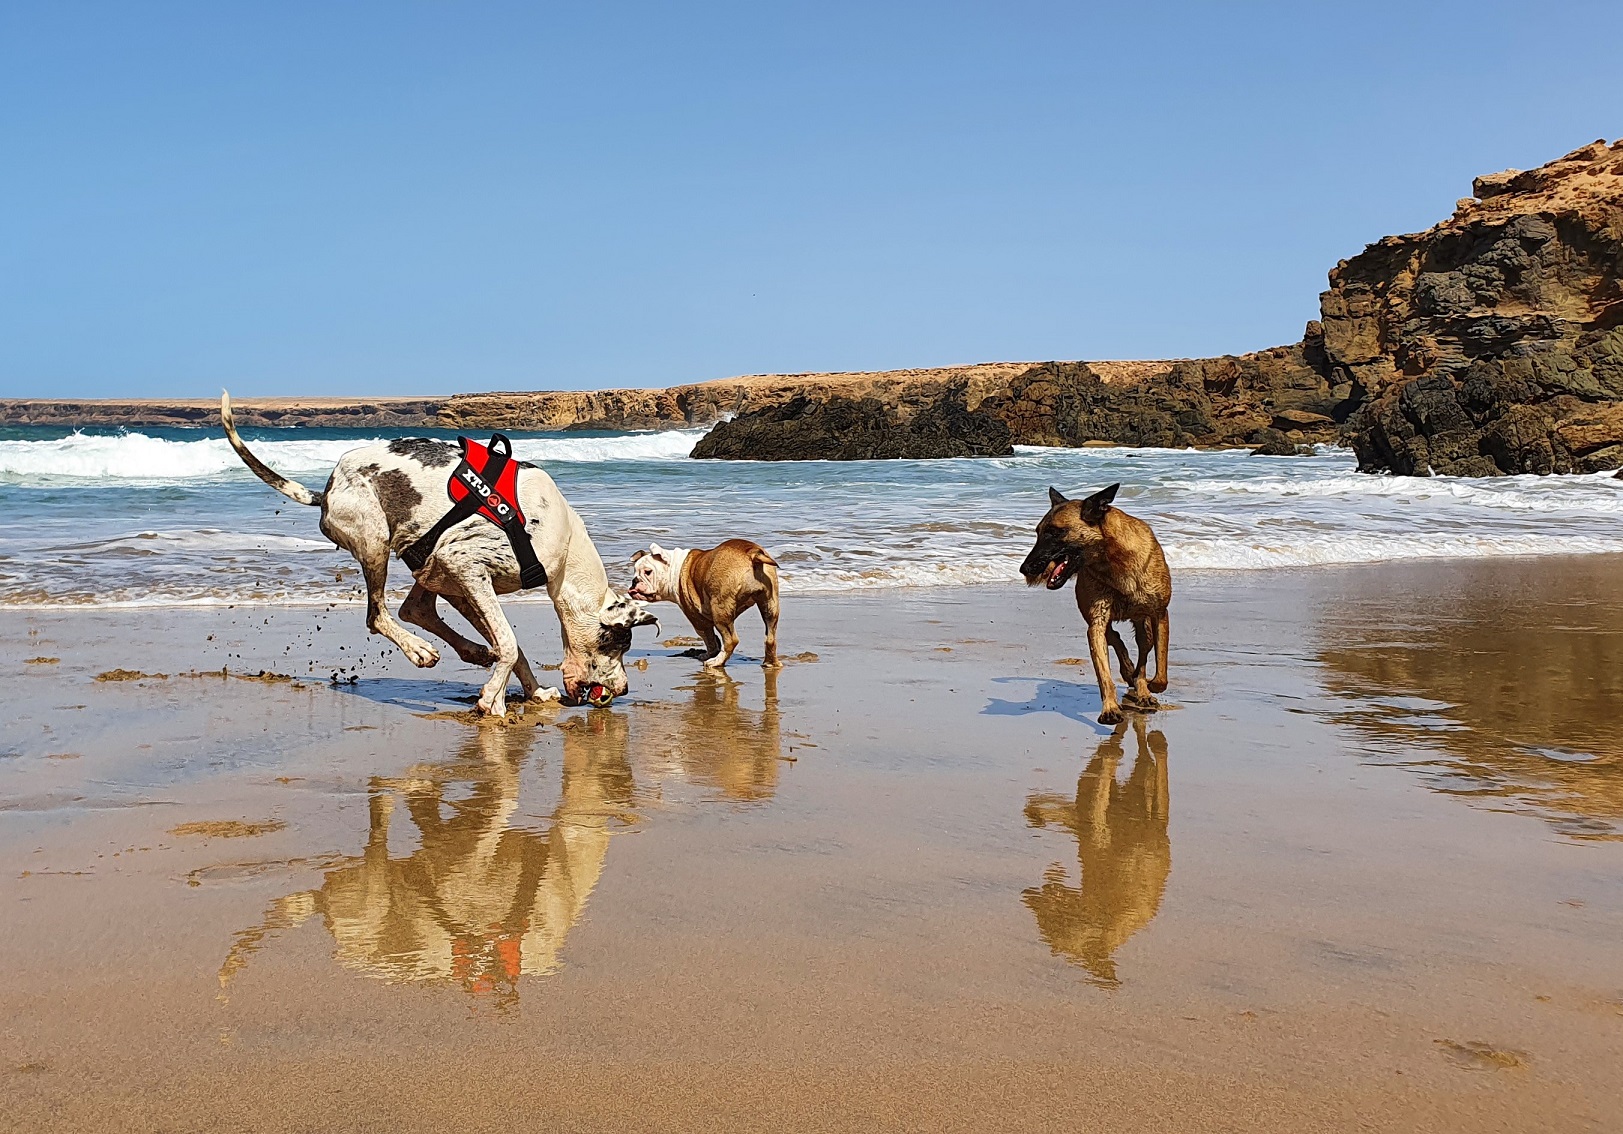
<path fill-rule="evenodd" d="M 721 668 L 738 649 L 734 620 L 760 607 L 766 623 L 761 665 L 777 665 L 777 560 L 760 543 L 727 540 L 708 552 L 649 543 L 631 556 L 633 602 L 674 602 L 704 639 L 704 665 Z"/>

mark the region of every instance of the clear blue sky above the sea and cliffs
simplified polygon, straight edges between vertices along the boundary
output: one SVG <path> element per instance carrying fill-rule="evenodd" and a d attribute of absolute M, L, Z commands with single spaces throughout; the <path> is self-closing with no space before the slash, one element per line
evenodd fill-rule
<path fill-rule="evenodd" d="M 1242 352 L 1623 3 L 0 0 L 0 396 Z"/>

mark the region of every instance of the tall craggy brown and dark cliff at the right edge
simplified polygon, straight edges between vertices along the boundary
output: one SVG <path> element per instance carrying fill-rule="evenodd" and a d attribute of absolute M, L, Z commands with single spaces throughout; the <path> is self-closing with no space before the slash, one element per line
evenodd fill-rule
<path fill-rule="evenodd" d="M 1367 472 L 1623 464 L 1623 141 L 1480 177 L 1331 273 L 1321 373 Z"/>

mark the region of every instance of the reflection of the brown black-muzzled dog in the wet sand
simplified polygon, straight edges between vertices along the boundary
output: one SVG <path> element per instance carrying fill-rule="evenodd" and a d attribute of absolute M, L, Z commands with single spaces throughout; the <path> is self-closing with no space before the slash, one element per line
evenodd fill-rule
<path fill-rule="evenodd" d="M 1021 899 L 1037 915 L 1037 933 L 1057 954 L 1086 969 L 1096 983 L 1115 986 L 1115 951 L 1143 930 L 1160 908 L 1172 871 L 1167 840 L 1167 738 L 1146 735 L 1144 719 L 1133 719 L 1138 758 L 1125 784 L 1117 784 L 1126 725 L 1099 745 L 1081 779 L 1076 800 L 1032 795 L 1026 823 L 1060 826 L 1076 835 L 1083 884 L 1065 884 L 1055 863 L 1042 886 Z"/>

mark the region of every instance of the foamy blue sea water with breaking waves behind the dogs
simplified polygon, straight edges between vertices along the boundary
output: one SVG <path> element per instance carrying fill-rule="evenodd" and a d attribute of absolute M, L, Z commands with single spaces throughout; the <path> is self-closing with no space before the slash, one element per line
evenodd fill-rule
<path fill-rule="evenodd" d="M 422 433 L 420 430 L 417 433 Z M 312 487 L 401 432 L 245 430 Z M 440 433 L 440 436 L 453 436 Z M 1121 482 L 1173 569 L 1623 552 L 1623 482 L 1368 477 L 1350 453 L 1019 449 L 964 461 L 690 461 L 700 432 L 516 433 L 586 519 L 610 578 L 651 540 L 766 545 L 794 592 L 1016 584 L 1047 487 Z M 265 487 L 217 433 L 0 430 L 0 607 L 326 604 L 360 595 L 316 511 Z M 398 563 L 391 584 L 409 586 Z"/>

